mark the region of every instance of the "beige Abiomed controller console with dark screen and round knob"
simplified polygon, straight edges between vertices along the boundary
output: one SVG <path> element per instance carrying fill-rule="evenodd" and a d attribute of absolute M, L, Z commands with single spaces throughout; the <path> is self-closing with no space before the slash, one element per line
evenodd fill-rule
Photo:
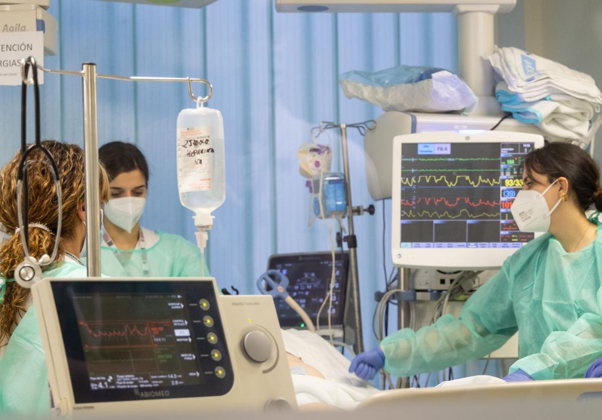
<path fill-rule="evenodd" d="M 32 288 L 55 415 L 295 407 L 270 296 L 213 279 L 53 279 Z"/>

